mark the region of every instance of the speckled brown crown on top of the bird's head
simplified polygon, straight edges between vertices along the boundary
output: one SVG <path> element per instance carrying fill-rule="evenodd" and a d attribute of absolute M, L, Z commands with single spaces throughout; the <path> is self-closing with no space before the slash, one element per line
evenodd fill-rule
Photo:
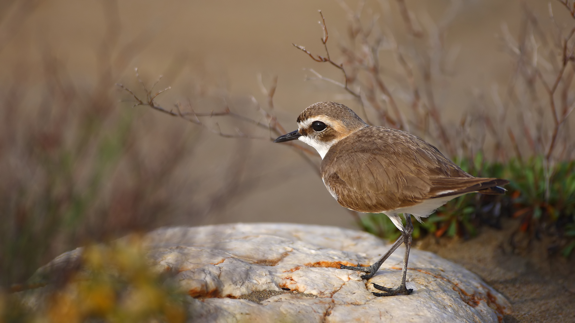
<path fill-rule="evenodd" d="M 363 128 L 367 126 L 353 110 L 337 102 L 318 102 L 312 104 L 297 117 L 297 122 L 322 115 L 341 121 L 347 128 Z"/>

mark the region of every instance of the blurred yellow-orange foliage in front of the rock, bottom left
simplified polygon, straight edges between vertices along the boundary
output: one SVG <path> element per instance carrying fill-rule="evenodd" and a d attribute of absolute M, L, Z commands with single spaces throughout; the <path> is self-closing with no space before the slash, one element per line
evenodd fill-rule
<path fill-rule="evenodd" d="M 185 294 L 162 282 L 161 273 L 150 266 L 139 236 L 91 245 L 83 250 L 81 259 L 80 269 L 67 283 L 49 293 L 32 316 L 20 316 L 22 321 L 185 322 Z M 0 322 L 15 317 L 7 303 L 6 295 L 0 294 Z"/>

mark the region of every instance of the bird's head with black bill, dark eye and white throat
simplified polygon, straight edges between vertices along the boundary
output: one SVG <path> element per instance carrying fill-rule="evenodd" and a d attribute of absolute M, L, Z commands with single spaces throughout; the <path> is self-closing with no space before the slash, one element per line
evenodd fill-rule
<path fill-rule="evenodd" d="M 322 159 L 332 145 L 367 126 L 354 111 L 336 102 L 310 105 L 297 117 L 297 125 L 297 130 L 278 137 L 274 143 L 298 139 L 316 148 Z"/>

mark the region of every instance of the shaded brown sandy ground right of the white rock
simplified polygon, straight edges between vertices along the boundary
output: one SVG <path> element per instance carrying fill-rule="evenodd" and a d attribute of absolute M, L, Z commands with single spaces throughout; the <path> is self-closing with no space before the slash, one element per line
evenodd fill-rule
<path fill-rule="evenodd" d="M 540 241 L 513 251 L 516 227 L 507 220 L 503 230 L 484 228 L 474 239 L 426 237 L 416 246 L 461 264 L 505 295 L 513 306 L 505 322 L 575 322 L 575 257 L 547 256 Z"/>

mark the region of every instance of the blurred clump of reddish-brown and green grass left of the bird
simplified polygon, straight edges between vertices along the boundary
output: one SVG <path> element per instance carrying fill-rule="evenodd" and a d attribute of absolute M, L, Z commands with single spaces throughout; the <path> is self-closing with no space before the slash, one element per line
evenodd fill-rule
<path fill-rule="evenodd" d="M 112 48 L 102 44 L 91 86 L 72 80 L 49 49 L 41 71 L 24 62 L 11 71 L 0 119 L 3 285 L 63 248 L 151 228 L 171 207 L 165 182 L 189 152 L 190 134 L 165 132 L 155 143 L 162 154 L 146 156 L 137 113 L 117 109 Z"/>

